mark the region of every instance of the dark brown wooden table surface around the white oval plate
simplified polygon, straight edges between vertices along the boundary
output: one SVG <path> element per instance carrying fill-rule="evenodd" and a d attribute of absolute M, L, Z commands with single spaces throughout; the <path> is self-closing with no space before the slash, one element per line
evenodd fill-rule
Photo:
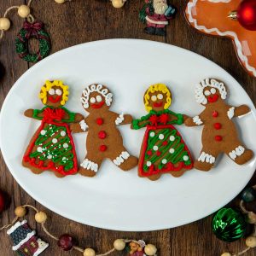
<path fill-rule="evenodd" d="M 137 18 L 138 10 L 143 6 L 143 0 L 128 0 L 122 9 L 114 9 L 108 0 L 74 0 L 65 4 L 57 4 L 54 0 L 34 0 L 32 14 L 38 20 L 44 21 L 52 40 L 52 53 L 75 44 L 106 38 L 142 38 L 174 44 L 206 56 L 223 67 L 243 85 L 255 103 L 256 80 L 249 77 L 240 66 L 230 40 L 207 37 L 191 28 L 183 15 L 186 2 L 186 0 L 172 0 L 172 3 L 178 8 L 178 14 L 177 18 L 172 20 L 167 27 L 166 37 L 154 37 L 143 33 L 144 26 Z M 26 3 L 25 0 L 0 0 L 0 16 L 9 6 L 24 3 Z M 18 18 L 15 12 L 11 13 L 11 20 L 13 26 L 9 32 L 5 33 L 0 44 L 1 106 L 12 85 L 31 66 L 20 60 L 15 54 L 15 35 L 22 26 L 23 20 Z M 27 195 L 11 176 L 2 155 L 0 165 L 0 188 L 9 193 L 12 199 L 9 209 L 0 216 L 1 225 L 9 223 L 14 217 L 15 206 L 28 203 L 48 212 L 48 226 L 52 233 L 57 236 L 63 233 L 72 234 L 79 240 L 79 246 L 94 247 L 98 253 L 108 251 L 112 247 L 113 241 L 119 237 L 144 239 L 154 243 L 159 248 L 158 255 L 160 256 L 216 256 L 225 251 L 237 252 L 245 247 L 244 240 L 229 244 L 215 238 L 211 230 L 212 216 L 176 229 L 154 232 L 117 232 L 78 224 L 50 212 L 34 201 L 30 195 Z M 231 175 L 232 173 L 230 173 L 230 178 L 232 178 Z M 255 176 L 251 183 L 256 183 Z M 203 194 L 204 191 L 201 193 Z M 45 236 L 40 226 L 36 226 L 32 214 L 26 218 L 31 226 L 38 230 L 39 236 L 45 241 L 49 241 L 50 247 L 42 255 L 82 255 L 82 253 L 74 251 L 62 252 L 56 246 L 55 241 Z M 11 246 L 9 236 L 2 231 L 0 233 L 0 255 L 13 255 Z M 250 251 L 246 255 L 253 256 L 255 253 L 256 250 Z M 113 255 L 123 254 L 113 253 Z"/>

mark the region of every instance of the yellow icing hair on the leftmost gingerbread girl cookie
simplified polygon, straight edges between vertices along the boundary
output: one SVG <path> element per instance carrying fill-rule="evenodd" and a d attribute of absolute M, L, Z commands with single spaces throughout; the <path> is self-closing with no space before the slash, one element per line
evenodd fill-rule
<path fill-rule="evenodd" d="M 65 103 L 68 100 L 68 86 L 63 84 L 61 80 L 54 80 L 53 82 L 50 82 L 47 80 L 45 84 L 41 87 L 41 91 L 39 93 L 39 98 L 42 100 L 44 104 L 47 102 L 47 92 L 53 87 L 53 86 L 59 86 L 63 90 L 62 99 L 61 99 L 61 105 L 65 105 Z"/>

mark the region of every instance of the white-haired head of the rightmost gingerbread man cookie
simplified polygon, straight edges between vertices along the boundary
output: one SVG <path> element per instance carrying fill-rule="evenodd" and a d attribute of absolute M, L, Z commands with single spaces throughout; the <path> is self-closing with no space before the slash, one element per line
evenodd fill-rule
<path fill-rule="evenodd" d="M 195 89 L 195 100 L 202 105 L 219 102 L 225 100 L 226 97 L 227 90 L 224 83 L 215 79 L 204 79 Z"/>

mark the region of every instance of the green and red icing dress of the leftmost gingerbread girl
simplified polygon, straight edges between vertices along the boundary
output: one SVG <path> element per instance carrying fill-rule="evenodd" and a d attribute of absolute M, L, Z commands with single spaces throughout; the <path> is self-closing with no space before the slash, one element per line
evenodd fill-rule
<path fill-rule="evenodd" d="M 68 119 L 64 119 L 65 113 Z M 63 107 L 46 106 L 41 110 L 35 109 L 32 117 L 42 120 L 42 123 L 32 137 L 23 160 L 32 167 L 64 176 L 78 172 L 75 146 L 68 126 L 74 122 L 75 113 Z"/>

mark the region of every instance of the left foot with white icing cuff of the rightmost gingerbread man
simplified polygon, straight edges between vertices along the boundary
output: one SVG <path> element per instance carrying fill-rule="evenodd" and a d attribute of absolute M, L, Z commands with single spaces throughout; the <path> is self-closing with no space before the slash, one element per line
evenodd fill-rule
<path fill-rule="evenodd" d="M 201 171 L 210 171 L 212 166 L 215 163 L 215 160 L 218 156 L 219 152 L 212 149 L 209 150 L 209 148 L 202 148 L 201 154 L 198 158 L 198 160 L 195 160 L 194 167 L 195 169 L 201 170 Z"/>

